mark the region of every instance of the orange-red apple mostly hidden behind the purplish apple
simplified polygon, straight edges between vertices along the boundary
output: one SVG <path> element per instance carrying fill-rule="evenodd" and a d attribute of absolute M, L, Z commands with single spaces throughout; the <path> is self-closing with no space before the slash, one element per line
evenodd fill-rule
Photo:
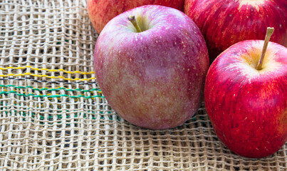
<path fill-rule="evenodd" d="M 95 31 L 100 33 L 105 24 L 118 14 L 148 4 L 169 6 L 183 11 L 184 0 L 88 0 L 88 13 Z"/>

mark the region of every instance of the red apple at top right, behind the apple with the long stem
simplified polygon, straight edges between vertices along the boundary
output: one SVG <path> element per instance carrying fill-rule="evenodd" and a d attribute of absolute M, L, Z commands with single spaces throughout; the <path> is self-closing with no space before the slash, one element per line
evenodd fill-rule
<path fill-rule="evenodd" d="M 186 0 L 184 13 L 202 31 L 210 63 L 234 43 L 264 40 L 267 27 L 275 28 L 271 41 L 287 47 L 286 0 Z"/>

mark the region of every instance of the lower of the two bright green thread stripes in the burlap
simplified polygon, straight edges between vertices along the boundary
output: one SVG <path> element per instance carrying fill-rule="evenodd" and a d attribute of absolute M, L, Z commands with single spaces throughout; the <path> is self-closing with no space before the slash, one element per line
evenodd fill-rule
<path fill-rule="evenodd" d="M 33 96 L 35 98 L 61 98 L 61 97 L 68 97 L 68 98 L 105 98 L 103 95 L 89 95 L 89 96 L 85 96 L 85 95 L 66 95 L 66 94 L 61 94 L 61 95 L 34 95 L 34 94 L 23 94 L 23 93 L 17 93 L 14 90 L 11 91 L 1 91 L 1 94 L 5 94 L 5 95 L 9 95 L 10 93 L 14 93 L 15 95 L 19 95 L 19 96 L 24 96 L 24 97 L 28 97 L 28 96 Z"/>

